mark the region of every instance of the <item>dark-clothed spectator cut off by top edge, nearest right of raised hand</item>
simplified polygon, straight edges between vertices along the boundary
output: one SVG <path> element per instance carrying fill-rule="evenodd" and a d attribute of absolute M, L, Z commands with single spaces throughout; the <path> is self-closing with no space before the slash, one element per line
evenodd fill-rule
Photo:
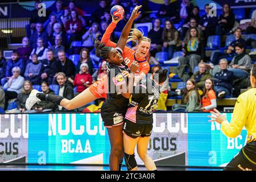
<path fill-rule="evenodd" d="M 175 19 L 178 14 L 178 9 L 179 5 L 177 4 L 177 1 L 171 3 L 170 0 L 164 0 L 164 4 L 160 6 L 156 16 L 158 16 L 158 18 Z"/>

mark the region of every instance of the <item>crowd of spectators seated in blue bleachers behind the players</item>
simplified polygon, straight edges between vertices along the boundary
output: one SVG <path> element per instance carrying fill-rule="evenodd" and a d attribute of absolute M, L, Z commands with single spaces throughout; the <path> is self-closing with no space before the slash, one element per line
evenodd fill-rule
<path fill-rule="evenodd" d="M 32 88 L 72 99 L 106 74 L 106 62 L 95 55 L 94 40 L 112 21 L 111 7 L 121 5 L 125 16 L 111 36 L 117 42 L 131 11 L 139 4 L 137 0 L 125 2 L 100 0 L 86 19 L 86 7 L 77 7 L 75 1 L 67 5 L 56 1 L 55 10 L 47 17 L 38 16 L 40 1 L 36 1 L 22 47 L 12 52 L 10 60 L 0 51 L 2 110 L 67 111 L 46 101 L 27 111 L 24 103 Z M 204 7 L 202 13 L 189 0 L 165 0 L 157 13 L 148 14 L 142 7 L 135 20 L 152 23 L 152 29 L 143 32 L 151 39 L 147 60 L 152 72 L 161 67 L 170 71 L 157 110 L 166 110 L 167 98 L 175 98 L 181 104 L 173 105 L 172 110 L 209 111 L 217 107 L 218 98 L 237 97 L 240 89 L 249 87 L 249 71 L 256 55 L 256 10 L 251 9 L 251 23 L 245 25 L 228 4 L 217 16 L 210 14 L 209 5 Z M 178 88 L 172 86 L 175 82 L 179 82 Z M 86 106 L 82 110 L 88 111 Z"/>

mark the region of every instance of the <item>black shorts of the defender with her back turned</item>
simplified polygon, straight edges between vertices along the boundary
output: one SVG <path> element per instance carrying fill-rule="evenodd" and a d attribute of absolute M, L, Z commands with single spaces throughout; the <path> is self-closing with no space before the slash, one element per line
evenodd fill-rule
<path fill-rule="evenodd" d="M 125 119 L 123 131 L 131 138 L 150 137 L 153 124 L 139 124 Z"/>

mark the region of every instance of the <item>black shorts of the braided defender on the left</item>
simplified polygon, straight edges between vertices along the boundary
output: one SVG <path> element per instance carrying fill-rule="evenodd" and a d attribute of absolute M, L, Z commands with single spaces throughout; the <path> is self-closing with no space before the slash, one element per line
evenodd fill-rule
<path fill-rule="evenodd" d="M 102 112 L 103 109 L 103 112 Z M 112 126 L 118 126 L 122 125 L 123 120 L 125 119 L 126 114 L 126 108 L 123 110 L 105 110 L 104 108 L 101 108 L 101 118 L 104 122 L 105 127 L 112 127 Z"/>

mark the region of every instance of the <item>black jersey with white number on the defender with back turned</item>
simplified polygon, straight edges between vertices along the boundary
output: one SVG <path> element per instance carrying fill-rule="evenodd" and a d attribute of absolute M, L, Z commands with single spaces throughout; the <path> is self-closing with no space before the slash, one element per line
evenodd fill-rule
<path fill-rule="evenodd" d="M 133 87 L 133 96 L 125 118 L 140 124 L 153 123 L 152 110 L 160 96 L 159 87 L 150 78 L 143 77 L 137 86 Z"/>

